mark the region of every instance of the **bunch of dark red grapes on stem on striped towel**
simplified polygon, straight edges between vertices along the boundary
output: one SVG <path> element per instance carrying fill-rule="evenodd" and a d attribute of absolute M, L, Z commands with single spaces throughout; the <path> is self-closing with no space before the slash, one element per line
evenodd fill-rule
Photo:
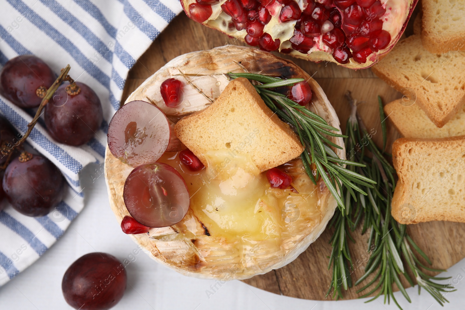
<path fill-rule="evenodd" d="M 50 98 L 47 92 L 51 92 L 55 79 L 42 59 L 21 55 L 2 68 L 0 94 L 20 108 L 37 108 L 42 99 Z M 69 84 L 59 86 L 45 105 L 46 127 L 57 142 L 83 145 L 102 123 L 100 100 L 86 84 L 74 82 L 69 76 L 64 80 Z M 24 150 L 23 134 L 17 134 L 6 119 L 0 118 L 0 199 L 6 197 L 24 215 L 45 216 L 60 203 L 65 179 L 50 160 Z"/>

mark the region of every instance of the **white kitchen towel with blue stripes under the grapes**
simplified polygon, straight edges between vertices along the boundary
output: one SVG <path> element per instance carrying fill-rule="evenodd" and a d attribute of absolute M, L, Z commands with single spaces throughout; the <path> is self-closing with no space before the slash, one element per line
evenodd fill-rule
<path fill-rule="evenodd" d="M 181 10 L 179 0 L 0 0 L 0 65 L 23 54 L 40 57 L 57 74 L 70 64 L 70 76 L 97 93 L 104 115 L 95 137 L 80 147 L 56 143 L 43 122 L 35 125 L 29 144 L 60 168 L 69 186 L 58 207 L 42 218 L 23 216 L 2 202 L 0 285 L 33 264 L 82 210 L 78 173 L 103 162 L 108 122 L 120 106 L 127 73 Z M 1 96 L 0 112 L 19 132 L 34 114 Z"/>

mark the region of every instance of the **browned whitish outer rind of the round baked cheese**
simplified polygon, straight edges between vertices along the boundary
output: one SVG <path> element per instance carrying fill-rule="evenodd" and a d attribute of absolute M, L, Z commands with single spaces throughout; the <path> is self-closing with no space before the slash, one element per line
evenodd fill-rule
<path fill-rule="evenodd" d="M 179 75 L 182 72 L 186 75 L 209 76 L 212 85 L 216 84 L 216 77 L 224 76 L 224 73 L 268 73 L 274 76 L 284 78 L 303 78 L 308 80 L 312 89 L 312 100 L 307 107 L 313 112 L 318 113 L 326 119 L 329 125 L 339 127 L 339 119 L 328 101 L 325 93 L 304 70 L 296 66 L 291 60 L 279 58 L 272 53 L 261 51 L 256 48 L 244 46 L 221 46 L 207 51 L 199 51 L 181 55 L 162 67 L 152 77 L 148 78 L 139 86 L 127 100 L 138 100 L 147 98 L 151 93 L 150 88 L 152 81 L 163 81 L 171 76 L 169 73 Z M 159 86 L 158 86 L 159 87 Z M 193 86 L 188 86 L 193 87 Z M 226 86 L 224 86 L 226 87 Z M 149 97 L 150 98 L 150 97 Z M 154 98 L 150 98 L 154 101 Z M 206 104 L 207 99 L 199 103 L 199 106 Z M 343 149 L 334 151 L 340 158 L 345 159 L 345 147 L 342 138 L 328 137 L 332 142 L 341 146 Z M 117 158 L 110 155 L 106 148 L 105 157 L 105 179 L 108 188 L 110 206 L 118 220 L 121 223 L 124 216 L 129 215 L 123 199 L 124 183 L 133 170 L 129 165 L 125 165 Z M 231 244 L 227 243 L 224 237 L 214 237 L 205 235 L 204 229 L 195 217 L 193 211 L 189 209 L 181 223 L 189 223 L 190 229 L 202 233 L 196 235 L 195 244 L 191 239 L 183 237 L 179 233 L 181 227 L 179 224 L 151 229 L 148 234 L 130 235 L 133 240 L 140 244 L 144 251 L 157 262 L 178 271 L 179 273 L 203 279 L 233 280 L 247 279 L 258 274 L 264 274 L 273 269 L 278 269 L 286 264 L 291 263 L 300 253 L 314 242 L 319 235 L 325 230 L 326 224 L 332 218 L 336 210 L 337 203 L 332 197 L 329 190 L 323 182 L 319 183 L 323 195 L 320 200 L 320 209 L 322 210 L 321 222 L 315 227 L 306 227 L 299 236 L 291 236 L 292 240 L 288 243 L 289 248 L 283 254 L 263 253 L 254 254 L 253 264 L 231 263 L 229 258 L 222 257 L 223 250 L 228 250 Z M 287 239 L 286 239 L 287 240 Z M 201 253 L 211 251 L 221 251 L 218 257 L 208 257 L 206 260 Z"/>

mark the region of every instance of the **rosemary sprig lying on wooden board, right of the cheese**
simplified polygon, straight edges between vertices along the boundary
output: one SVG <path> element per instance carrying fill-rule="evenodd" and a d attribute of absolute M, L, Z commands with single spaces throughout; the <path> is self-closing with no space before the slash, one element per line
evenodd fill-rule
<path fill-rule="evenodd" d="M 351 169 L 357 169 L 360 174 L 370 176 L 376 181 L 376 185 L 372 188 L 362 186 L 367 193 L 367 199 L 360 195 L 358 201 L 352 199 L 347 190 L 343 191 L 346 197 L 344 213 L 337 213 L 330 223 L 334 227 L 334 235 L 331 239 L 333 250 L 328 268 L 332 266 L 333 277 L 327 295 L 333 290 L 333 298 L 339 299 L 343 297 L 342 289 L 347 290 L 348 287 L 351 287 L 351 267 L 348 267 L 352 266 L 348 247 L 349 240 L 352 239 L 350 231 L 361 226 L 362 234 L 369 231 L 370 237 L 367 244 L 369 258 L 366 261 L 365 274 L 354 284 L 363 285 L 357 291 L 358 293 L 365 291 L 365 294 L 360 298 L 372 297 L 367 301 L 370 302 L 383 294 L 384 302 L 387 300 L 389 303 L 392 298 L 400 308 L 392 292 L 392 285 L 396 284 L 405 299 L 411 302 L 400 282 L 400 275 L 402 275 L 414 286 L 407 273 L 407 269 L 409 269 L 419 284 L 419 292 L 420 288 L 423 287 L 440 305 L 443 305 L 448 301 L 442 293 L 453 291 L 453 287 L 449 284 L 433 282 L 433 280 L 440 281 L 448 278 L 431 277 L 420 269 L 435 272 L 445 271 L 435 270 L 422 264 L 412 248 L 425 258 L 428 264 L 431 264 L 431 261 L 407 234 L 406 225 L 399 224 L 391 217 L 391 200 L 395 188 L 394 168 L 385 159 L 384 155 L 387 154 L 383 154 L 383 151 L 372 141 L 371 133 L 367 132 L 363 121 L 357 115 L 357 105 L 350 93 L 347 94 L 347 99 L 352 106 L 352 113 L 346 126 L 348 138 L 345 139 L 348 159 L 365 165 L 364 167 L 351 167 Z M 379 112 L 383 120 L 385 116 L 382 106 L 379 98 Z M 382 133 L 384 150 L 387 140 L 385 127 L 382 127 Z M 370 151 L 372 156 L 367 156 L 366 151 Z M 407 264 L 405 265 L 404 262 Z M 374 277 L 365 284 L 365 280 L 371 275 Z M 368 287 L 374 283 L 376 283 L 375 287 L 368 290 Z"/>

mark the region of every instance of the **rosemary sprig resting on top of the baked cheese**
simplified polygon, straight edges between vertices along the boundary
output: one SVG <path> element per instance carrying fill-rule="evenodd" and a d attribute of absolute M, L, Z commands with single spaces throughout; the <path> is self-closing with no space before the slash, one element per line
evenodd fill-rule
<path fill-rule="evenodd" d="M 280 79 L 254 73 L 227 73 L 227 76 L 231 79 L 241 77 L 254 81 L 252 84 L 266 105 L 280 119 L 292 126 L 300 142 L 305 146 L 300 157 L 312 182 L 316 185 L 321 177 L 341 210 L 345 207 L 343 188 L 352 195 L 354 200 L 357 200 L 355 192 L 362 194 L 360 196 L 367 195 L 362 187 L 373 188 L 375 181 L 357 173 L 353 168 L 347 169 L 344 166 L 365 167 L 365 164 L 341 159 L 334 152 L 333 148 L 343 148 L 333 143 L 329 137 L 347 138 L 347 136 L 337 133 L 339 129 L 328 125 L 325 119 L 305 106 L 300 106 L 286 95 L 272 90 L 276 87 L 293 86 L 294 83 L 304 81 L 304 79 Z M 316 168 L 316 176 L 313 175 L 312 165 Z"/>

